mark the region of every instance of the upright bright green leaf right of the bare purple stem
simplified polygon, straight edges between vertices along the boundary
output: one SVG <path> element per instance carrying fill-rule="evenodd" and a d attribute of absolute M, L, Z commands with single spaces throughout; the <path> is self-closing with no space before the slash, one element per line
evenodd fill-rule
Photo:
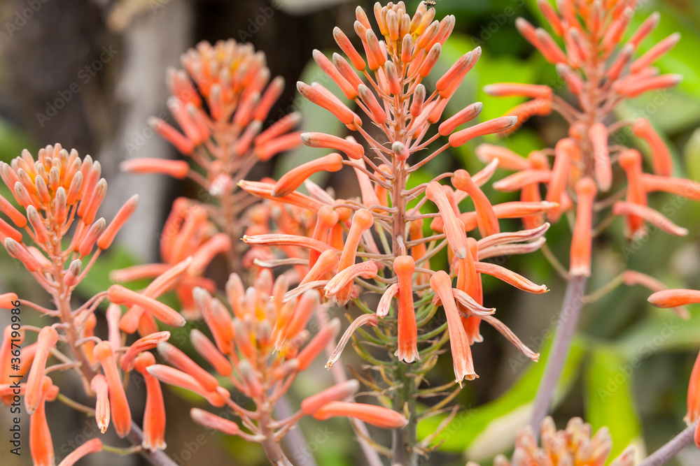
<path fill-rule="evenodd" d="M 641 425 L 632 395 L 632 372 L 624 354 L 598 347 L 585 377 L 586 421 L 594 432 L 607 427 L 612 437 L 608 463 L 631 443 L 641 442 Z"/>

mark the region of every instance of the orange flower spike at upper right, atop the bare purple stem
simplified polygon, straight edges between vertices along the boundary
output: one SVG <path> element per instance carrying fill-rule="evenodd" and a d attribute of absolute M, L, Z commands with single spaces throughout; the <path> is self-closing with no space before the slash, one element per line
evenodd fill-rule
<path fill-rule="evenodd" d="M 635 58 L 640 44 L 650 36 L 659 22 L 658 13 L 633 31 L 625 42 L 624 37 L 635 13 L 635 2 L 628 0 L 605 2 L 597 5 L 590 2 L 540 0 L 538 6 L 552 27 L 554 35 L 518 18 L 517 29 L 549 63 L 556 66 L 567 90 L 575 100 L 572 105 L 562 96 L 554 94 L 548 86 L 500 83 L 489 85 L 484 90 L 493 96 L 524 96 L 526 103 L 519 105 L 507 115 L 520 115 L 519 123 L 530 115 L 546 115 L 554 110 L 570 123 L 569 137 L 556 144 L 554 163 L 533 167 L 528 159 L 518 157 L 510 151 L 483 145 L 477 148 L 482 160 L 498 158 L 502 167 L 517 173 L 493 184 L 502 191 L 521 191 L 523 201 L 539 200 L 539 187 L 546 188 L 546 200 L 559 203 L 547 212 L 547 219 L 559 221 L 567 210 L 579 212 L 580 199 L 575 196 L 577 182 L 589 176 L 595 182 L 594 203 L 603 207 L 612 205 L 624 192 L 621 177 L 626 175 L 626 203 L 613 205 L 612 215 L 624 217 L 626 235 L 635 239 L 645 233 L 645 222 L 651 222 L 668 233 L 678 235 L 685 231 L 673 225 L 647 205 L 647 193 L 668 191 L 693 193 L 698 185 L 690 180 L 672 178 L 673 159 L 652 124 L 644 118 L 628 121 L 616 120 L 615 110 L 626 99 L 657 89 L 668 89 L 680 82 L 678 75 L 657 75 L 654 63 L 678 43 L 680 36 L 672 34 L 654 45 L 648 52 Z M 527 109 L 533 111 L 526 111 Z M 520 109 L 521 111 L 519 111 Z M 534 109 L 541 109 L 538 112 Z M 641 155 L 637 150 L 619 143 L 617 133 L 631 129 L 631 133 L 645 142 L 650 154 L 653 175 L 643 173 Z M 614 141 L 614 142 L 613 142 Z M 616 170 L 619 162 L 622 170 Z M 687 196 L 687 195 L 685 195 Z M 698 196 L 689 196 L 698 199 Z M 589 196 L 584 196 L 587 209 L 594 205 Z M 596 207 L 597 211 L 597 207 Z M 605 214 L 600 215 L 605 218 Z M 592 218 L 592 216 L 591 216 Z M 528 219 L 527 222 L 531 220 Z M 526 228 L 535 224 L 526 223 Z M 595 229 L 594 225 L 594 229 Z M 580 235 L 579 235 L 580 236 Z M 579 247 L 571 249 L 571 263 L 580 258 Z M 579 267 L 578 265 L 576 267 Z M 572 273 L 587 275 L 587 266 Z"/>

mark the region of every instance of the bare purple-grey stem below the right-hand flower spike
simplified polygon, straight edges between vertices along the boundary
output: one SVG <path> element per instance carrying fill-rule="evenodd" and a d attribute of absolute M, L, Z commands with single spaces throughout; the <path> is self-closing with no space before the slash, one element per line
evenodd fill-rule
<path fill-rule="evenodd" d="M 566 285 L 566 294 L 561 305 L 554 342 L 552 342 L 552 348 L 549 349 L 545 374 L 540 380 L 540 386 L 535 397 L 535 407 L 530 420 L 530 426 L 535 434 L 535 438 L 538 437 L 542 419 L 547 416 L 549 409 L 552 407 L 554 388 L 556 388 L 559 377 L 561 377 L 561 371 L 568 357 L 578 317 L 583 307 L 586 283 L 587 277 L 573 275 Z"/>

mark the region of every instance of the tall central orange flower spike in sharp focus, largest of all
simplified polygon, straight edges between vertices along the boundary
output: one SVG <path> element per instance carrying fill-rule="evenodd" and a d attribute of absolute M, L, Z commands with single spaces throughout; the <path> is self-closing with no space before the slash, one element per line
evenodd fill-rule
<path fill-rule="evenodd" d="M 381 293 L 375 313 L 379 319 L 389 314 L 393 298 L 398 298 L 398 311 L 393 319 L 398 329 L 394 330 L 396 340 L 391 346 L 400 361 L 406 363 L 421 358 L 416 318 L 426 324 L 434 313 L 432 295 L 428 300 L 414 303 L 414 293 L 423 294 L 432 288 L 437 296 L 435 301 L 442 303 L 447 314 L 456 381 L 473 379 L 476 374 L 469 346 L 481 339 L 478 326 L 482 319 L 494 323 L 517 341 L 509 330 L 493 319 L 493 310 L 481 305 L 479 274 L 493 275 L 533 293 L 547 290 L 545 286 L 535 285 L 510 270 L 483 262 L 488 257 L 537 249 L 547 229 L 547 226 L 540 226 L 531 231 L 500 233 L 498 218 L 547 212 L 555 204 L 518 202 L 491 205 L 479 186 L 489 180 L 496 163 L 473 177 L 465 170 L 458 170 L 409 189 L 410 175 L 423 164 L 449 147 L 458 147 L 477 136 L 504 131 L 516 119 L 504 117 L 456 131 L 458 126 L 479 115 L 482 105 L 475 103 L 428 135 L 465 75 L 476 64 L 481 50 L 477 48 L 463 55 L 437 80 L 435 92 L 427 94 L 421 81 L 430 74 L 440 56 L 442 44 L 454 27 L 454 17 L 434 20 L 435 10 L 426 8 L 423 3 L 412 17 L 406 13 L 403 2 L 384 7 L 377 3 L 374 15 L 381 31 L 380 40 L 364 10 L 358 7 L 356 15 L 355 29 L 365 57 L 357 52 L 340 29 L 335 28 L 335 40 L 352 65 L 339 54 L 334 54 L 331 61 L 318 50 L 314 51 L 314 59 L 345 96 L 353 99 L 370 122 L 377 126 L 378 131 L 374 132 L 388 143 L 380 143 L 365 131 L 362 119 L 322 85 L 297 83 L 297 89 L 306 99 L 329 110 L 349 129 L 357 131 L 367 142 L 369 152 L 365 153 L 365 147 L 351 137 L 343 139 L 325 133 L 303 133 L 305 145 L 337 150 L 346 154 L 347 159 L 336 152 L 290 170 L 274 184 L 239 184 L 257 196 L 311 210 L 316 214 L 313 233 L 309 237 L 253 235 L 244 237 L 244 240 L 250 245 L 295 245 L 308 249 L 308 272 L 300 282 L 299 292 L 322 289 L 326 299 L 341 306 L 359 295 L 358 286 Z M 367 84 L 357 75 L 358 71 Z M 416 159 L 417 153 L 440 137 L 449 138 L 449 142 L 422 160 Z M 307 181 L 312 173 L 321 170 L 335 172 L 343 166 L 353 168 L 360 187 L 360 199 L 334 199 Z M 452 187 L 438 182 L 443 178 L 451 178 Z M 309 196 L 296 191 L 302 184 L 309 188 Z M 476 211 L 461 213 L 458 203 L 467 197 L 474 201 Z M 413 199 L 419 202 L 409 208 L 407 204 Z M 421 213 L 426 201 L 434 203 L 439 213 Z M 433 219 L 430 226 L 437 234 L 423 235 L 426 219 Z M 466 233 L 477 227 L 482 239 L 468 238 Z M 381 248 L 374 238 L 379 238 Z M 430 258 L 446 246 L 449 246 L 451 273 L 431 270 Z M 356 263 L 357 259 L 360 261 Z M 356 282 L 359 277 L 372 282 Z M 454 277 L 457 281 L 453 289 L 451 282 Z M 368 320 L 367 323 L 374 322 Z M 347 340 L 348 337 L 343 339 Z M 426 335 L 422 340 L 426 341 Z M 525 349 L 523 344 L 518 342 L 518 345 Z M 528 356 L 536 359 L 535 354 L 526 351 Z M 331 365 L 333 362 L 330 361 Z"/>

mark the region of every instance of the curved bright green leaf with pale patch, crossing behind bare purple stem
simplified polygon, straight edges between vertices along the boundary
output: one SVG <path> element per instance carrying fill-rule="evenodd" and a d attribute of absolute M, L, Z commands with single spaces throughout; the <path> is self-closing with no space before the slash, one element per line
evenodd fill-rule
<path fill-rule="evenodd" d="M 466 450 L 469 458 L 477 461 L 512 449 L 517 430 L 526 425 L 530 417 L 531 404 L 547 363 L 549 344 L 551 338 L 545 344 L 540 362 L 529 364 L 526 372 L 506 393 L 482 406 L 458 413 L 433 442 L 442 442 L 437 449 L 455 453 Z M 575 340 L 556 389 L 555 403 L 568 393 L 577 377 L 583 354 L 582 342 Z M 511 359 L 509 363 L 513 370 L 524 364 L 518 359 Z M 444 418 L 445 416 L 434 416 L 421 421 L 418 424 L 419 438 L 423 439 L 435 432 Z"/>

